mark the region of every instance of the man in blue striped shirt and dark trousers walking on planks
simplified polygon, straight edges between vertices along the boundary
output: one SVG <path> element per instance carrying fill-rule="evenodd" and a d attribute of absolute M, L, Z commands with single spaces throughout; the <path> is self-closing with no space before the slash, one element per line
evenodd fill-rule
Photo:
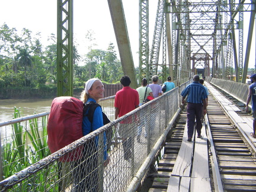
<path fill-rule="evenodd" d="M 206 89 L 199 83 L 199 75 L 195 75 L 191 84 L 189 84 L 183 92 L 181 92 L 182 103 L 185 104 L 185 97 L 187 97 L 187 127 L 188 127 L 188 141 L 192 140 L 194 133 L 194 123 L 196 117 L 197 137 L 201 138 L 201 114 L 206 114 Z M 203 103 L 203 106 L 202 106 Z"/>

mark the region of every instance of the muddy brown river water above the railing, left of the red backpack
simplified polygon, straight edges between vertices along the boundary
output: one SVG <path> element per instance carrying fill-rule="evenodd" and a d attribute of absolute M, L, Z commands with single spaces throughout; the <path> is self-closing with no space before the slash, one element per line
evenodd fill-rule
<path fill-rule="evenodd" d="M 14 106 L 20 108 L 22 116 L 49 112 L 53 99 L 0 100 L 0 122 L 12 119 Z"/>

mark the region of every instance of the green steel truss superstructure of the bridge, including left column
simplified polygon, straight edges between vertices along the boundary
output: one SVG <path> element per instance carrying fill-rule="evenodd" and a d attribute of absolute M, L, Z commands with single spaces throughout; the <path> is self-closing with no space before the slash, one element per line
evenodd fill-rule
<path fill-rule="evenodd" d="M 159 0 L 149 46 L 149 0 L 139 0 L 139 81 L 162 73 L 178 81 L 201 73 L 245 83 L 255 20 L 255 1 Z M 123 72 L 137 87 L 121 0 L 108 0 Z M 248 33 L 244 14 L 249 12 Z M 73 0 L 57 0 L 57 95 L 73 95 Z M 244 42 L 244 36 L 248 37 Z M 244 55 L 245 53 L 245 55 Z M 254 52 L 255 54 L 255 52 Z M 160 58 L 161 57 L 161 58 Z"/>

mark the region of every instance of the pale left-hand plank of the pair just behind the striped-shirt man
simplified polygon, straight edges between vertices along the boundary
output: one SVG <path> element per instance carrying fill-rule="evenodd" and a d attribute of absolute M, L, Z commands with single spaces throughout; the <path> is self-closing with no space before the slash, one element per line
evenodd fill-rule
<path fill-rule="evenodd" d="M 172 170 L 173 176 L 190 176 L 190 169 L 192 164 L 193 142 L 187 141 L 187 124 L 185 124 L 183 142 L 181 143 L 180 151 Z"/>

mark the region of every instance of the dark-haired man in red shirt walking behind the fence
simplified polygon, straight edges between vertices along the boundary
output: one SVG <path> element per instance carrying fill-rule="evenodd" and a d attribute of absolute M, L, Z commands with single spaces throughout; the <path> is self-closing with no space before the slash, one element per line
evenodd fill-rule
<path fill-rule="evenodd" d="M 120 79 L 123 88 L 117 91 L 114 101 L 115 119 L 124 116 L 135 108 L 139 107 L 139 94 L 135 89 L 129 87 L 131 81 L 129 76 L 124 75 Z M 136 135 L 137 127 L 132 126 L 132 116 L 120 122 L 119 135 L 123 139 L 124 159 L 132 158 L 133 138 Z"/>

